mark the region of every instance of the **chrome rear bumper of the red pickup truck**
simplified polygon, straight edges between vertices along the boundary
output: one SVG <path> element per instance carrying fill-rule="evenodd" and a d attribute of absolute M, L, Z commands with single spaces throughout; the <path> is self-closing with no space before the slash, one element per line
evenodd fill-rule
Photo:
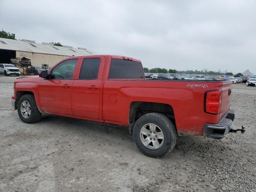
<path fill-rule="evenodd" d="M 229 110 L 228 114 L 222 118 L 218 124 L 204 125 L 204 136 L 214 139 L 222 139 L 231 130 L 235 118 L 235 111 Z"/>

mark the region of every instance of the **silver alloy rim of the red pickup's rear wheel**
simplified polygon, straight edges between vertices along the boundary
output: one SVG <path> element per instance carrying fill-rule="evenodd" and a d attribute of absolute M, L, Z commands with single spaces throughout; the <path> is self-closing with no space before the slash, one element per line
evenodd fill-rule
<path fill-rule="evenodd" d="M 147 123 L 140 128 L 140 141 L 146 148 L 157 150 L 164 143 L 164 133 L 156 124 Z"/>

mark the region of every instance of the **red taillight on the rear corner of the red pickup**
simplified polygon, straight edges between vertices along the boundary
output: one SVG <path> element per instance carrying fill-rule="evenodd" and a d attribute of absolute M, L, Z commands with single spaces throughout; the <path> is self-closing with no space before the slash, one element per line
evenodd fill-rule
<path fill-rule="evenodd" d="M 221 90 L 208 91 L 204 94 L 204 112 L 219 114 L 221 106 Z"/>

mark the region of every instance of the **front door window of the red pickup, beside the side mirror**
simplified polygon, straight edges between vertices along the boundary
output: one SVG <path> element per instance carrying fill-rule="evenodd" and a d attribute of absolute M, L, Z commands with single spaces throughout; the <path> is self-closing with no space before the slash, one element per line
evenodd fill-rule
<path fill-rule="evenodd" d="M 52 69 L 51 79 L 72 79 L 77 59 L 66 60 Z"/>

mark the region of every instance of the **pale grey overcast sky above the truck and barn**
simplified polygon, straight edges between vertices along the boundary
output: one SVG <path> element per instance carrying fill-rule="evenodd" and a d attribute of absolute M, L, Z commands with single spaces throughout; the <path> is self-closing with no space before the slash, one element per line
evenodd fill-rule
<path fill-rule="evenodd" d="M 256 74 L 255 0 L 0 0 L 1 29 L 148 68 Z"/>

